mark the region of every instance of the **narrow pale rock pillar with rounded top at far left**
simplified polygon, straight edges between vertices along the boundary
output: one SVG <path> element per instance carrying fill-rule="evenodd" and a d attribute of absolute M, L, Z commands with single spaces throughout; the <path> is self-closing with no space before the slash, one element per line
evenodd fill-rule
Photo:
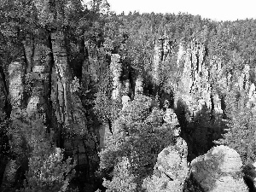
<path fill-rule="evenodd" d="M 9 99 L 12 106 L 12 111 L 10 114 L 10 131 L 13 133 L 10 137 L 10 148 L 12 151 L 20 152 L 20 134 L 15 134 L 15 131 L 19 131 L 23 126 L 20 123 L 20 117 L 22 117 L 22 109 L 24 106 L 24 75 L 25 75 L 25 59 L 23 57 L 12 61 L 9 64 Z M 23 148 L 22 148 L 23 149 Z M 21 149 L 21 150 L 22 150 Z M 24 163 L 24 157 L 26 156 L 25 150 L 22 150 L 20 156 L 17 157 L 17 160 L 9 160 L 5 167 L 5 172 L 3 174 L 3 188 L 9 189 L 9 187 L 17 182 L 15 176 L 18 167 L 22 167 Z M 4 162 L 3 163 L 4 166 Z M 8 177 L 9 170 L 12 169 L 11 176 Z M 1 190 L 1 189 L 0 189 Z"/>

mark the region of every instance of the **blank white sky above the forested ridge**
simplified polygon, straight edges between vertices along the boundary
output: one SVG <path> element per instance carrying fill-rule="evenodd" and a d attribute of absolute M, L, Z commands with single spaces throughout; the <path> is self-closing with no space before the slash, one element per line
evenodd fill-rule
<path fill-rule="evenodd" d="M 117 14 L 189 13 L 211 20 L 256 19 L 256 0 L 108 0 Z"/>

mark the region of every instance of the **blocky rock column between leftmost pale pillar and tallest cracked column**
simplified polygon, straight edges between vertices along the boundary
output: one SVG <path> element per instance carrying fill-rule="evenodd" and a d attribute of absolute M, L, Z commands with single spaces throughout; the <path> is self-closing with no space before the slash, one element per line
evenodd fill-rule
<path fill-rule="evenodd" d="M 47 39 L 47 37 L 44 37 Z M 49 72 L 51 67 L 50 49 L 47 40 L 31 40 L 25 45 L 26 61 L 26 94 L 29 96 L 26 113 L 33 119 L 39 113 L 46 123 L 49 119 Z"/>

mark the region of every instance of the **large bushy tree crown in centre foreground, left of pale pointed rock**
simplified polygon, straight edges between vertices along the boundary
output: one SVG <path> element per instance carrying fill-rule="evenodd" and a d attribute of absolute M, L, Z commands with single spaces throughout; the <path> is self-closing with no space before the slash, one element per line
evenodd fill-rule
<path fill-rule="evenodd" d="M 114 121 L 113 137 L 100 153 L 100 171 L 113 168 L 112 181 L 105 181 L 112 191 L 122 191 L 123 187 L 134 191 L 136 185 L 140 190 L 143 178 L 153 171 L 157 154 L 173 143 L 172 129 L 162 124 L 162 115 L 160 109 L 152 107 L 150 97 L 139 95 Z M 122 186 L 127 179 L 131 185 Z"/>

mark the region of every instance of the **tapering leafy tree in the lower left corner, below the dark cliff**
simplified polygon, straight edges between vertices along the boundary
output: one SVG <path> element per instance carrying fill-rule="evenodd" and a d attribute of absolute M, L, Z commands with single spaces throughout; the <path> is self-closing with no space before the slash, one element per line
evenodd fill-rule
<path fill-rule="evenodd" d="M 75 162 L 64 160 L 63 149 L 54 148 L 51 137 L 40 120 L 34 127 L 31 139 L 32 153 L 29 170 L 26 173 L 24 191 L 67 191 L 69 181 L 74 177 Z"/>

